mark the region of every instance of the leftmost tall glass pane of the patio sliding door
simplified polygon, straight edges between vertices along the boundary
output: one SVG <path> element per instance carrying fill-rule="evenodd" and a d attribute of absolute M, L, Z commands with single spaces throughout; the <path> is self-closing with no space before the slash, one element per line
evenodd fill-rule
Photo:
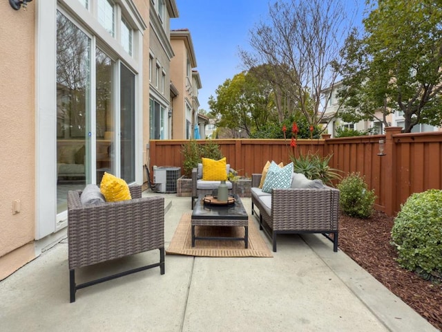
<path fill-rule="evenodd" d="M 57 12 L 57 212 L 90 182 L 90 38 Z"/>

